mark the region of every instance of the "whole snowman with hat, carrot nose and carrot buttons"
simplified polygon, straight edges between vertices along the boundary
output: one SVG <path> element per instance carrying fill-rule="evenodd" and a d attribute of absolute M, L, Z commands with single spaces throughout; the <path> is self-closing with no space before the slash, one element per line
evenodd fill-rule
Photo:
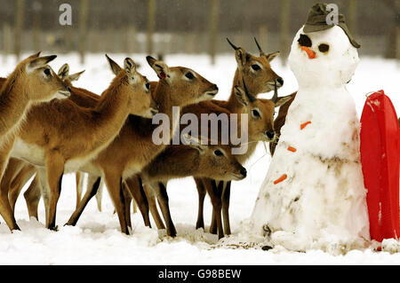
<path fill-rule="evenodd" d="M 299 90 L 251 216 L 270 246 L 337 250 L 370 239 L 360 124 L 346 89 L 360 45 L 343 15 L 329 26 L 327 14 L 326 4 L 314 5 L 292 42 Z"/>

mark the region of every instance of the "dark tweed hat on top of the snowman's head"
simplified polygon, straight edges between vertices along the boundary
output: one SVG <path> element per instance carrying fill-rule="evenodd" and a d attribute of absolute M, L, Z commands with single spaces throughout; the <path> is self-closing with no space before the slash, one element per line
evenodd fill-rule
<path fill-rule="evenodd" d="M 327 4 L 324 3 L 317 3 L 311 7 L 311 9 L 308 11 L 307 20 L 303 28 L 303 31 L 305 33 L 321 31 L 324 29 L 332 28 L 335 25 L 334 23 L 328 25 L 326 19 L 331 11 L 327 10 L 326 7 Z M 351 35 L 350 31 L 348 30 L 348 26 L 346 26 L 345 16 L 343 14 L 338 15 L 337 25 L 343 29 L 346 35 L 348 35 L 348 40 L 354 47 L 361 47 L 361 45 L 356 42 L 356 40 L 353 38 L 353 35 Z"/>

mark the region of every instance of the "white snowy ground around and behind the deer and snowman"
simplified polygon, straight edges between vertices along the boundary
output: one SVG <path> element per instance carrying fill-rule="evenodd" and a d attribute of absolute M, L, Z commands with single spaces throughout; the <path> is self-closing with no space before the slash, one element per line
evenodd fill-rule
<path fill-rule="evenodd" d="M 124 54 L 109 54 L 123 64 Z M 156 75 L 145 60 L 144 54 L 132 56 L 140 62 L 140 72 L 150 80 Z M 170 66 L 192 67 L 213 83 L 220 92 L 217 98 L 226 99 L 230 91 L 236 68 L 234 54 L 219 56 L 216 65 L 211 66 L 206 56 L 173 55 L 165 61 Z M 84 66 L 76 54 L 60 55 L 53 63 L 55 71 L 63 63 L 69 63 L 70 72 L 86 69 L 75 83 L 96 93 L 104 90 L 112 78 L 103 55 L 89 55 Z M 0 75 L 12 71 L 15 60 L 8 58 L 0 65 Z M 297 90 L 297 83 L 288 67 L 279 59 L 272 63 L 277 74 L 284 77 L 280 95 Z M 398 78 L 400 64 L 393 60 L 361 58 L 356 75 L 348 84 L 348 90 L 356 100 L 361 115 L 365 94 L 373 90 L 385 90 L 400 112 Z M 271 94 L 261 95 L 268 98 Z M 314 250 L 294 253 L 281 249 L 268 252 L 260 248 L 238 248 L 235 236 L 240 225 L 252 213 L 260 185 L 268 170 L 270 157 L 266 147 L 260 144 L 251 160 L 245 164 L 249 174 L 243 181 L 232 185 L 230 219 L 233 237 L 218 240 L 203 230 L 195 229 L 197 213 L 196 186 L 191 178 L 170 182 L 168 193 L 172 218 L 178 237 L 171 239 L 165 232 L 144 227 L 140 214 L 132 215 L 133 233 L 126 236 L 119 232 L 117 216 L 107 191 L 103 195 L 103 211 L 99 212 L 94 200 L 89 203 L 76 227 L 64 227 L 75 208 L 75 178 L 63 178 L 62 192 L 58 205 L 57 224 L 59 232 L 44 228 L 44 206 L 40 204 L 40 222 L 28 219 L 28 210 L 22 197 L 17 201 L 16 218 L 21 232 L 9 232 L 4 221 L 0 224 L 0 264 L 400 264 L 400 254 L 374 252 L 372 249 L 354 250 L 346 255 L 330 255 Z M 211 219 L 210 201 L 206 199 L 204 216 L 206 231 Z"/>

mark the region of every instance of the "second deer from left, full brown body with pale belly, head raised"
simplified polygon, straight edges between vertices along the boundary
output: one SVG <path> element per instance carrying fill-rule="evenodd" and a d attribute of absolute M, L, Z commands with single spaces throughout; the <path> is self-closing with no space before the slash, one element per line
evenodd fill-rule
<path fill-rule="evenodd" d="M 56 207 L 64 172 L 79 169 L 116 138 L 129 114 L 152 117 L 157 113 L 146 77 L 132 59 L 110 83 L 97 106 L 84 108 L 69 99 L 32 107 L 28 127 L 22 127 L 12 156 L 35 164 L 46 205 L 46 227 L 55 229 Z M 4 187 L 2 187 L 4 189 Z M 1 194 L 7 202 L 7 193 Z M 11 230 L 18 229 L 10 205 L 1 209 Z"/>

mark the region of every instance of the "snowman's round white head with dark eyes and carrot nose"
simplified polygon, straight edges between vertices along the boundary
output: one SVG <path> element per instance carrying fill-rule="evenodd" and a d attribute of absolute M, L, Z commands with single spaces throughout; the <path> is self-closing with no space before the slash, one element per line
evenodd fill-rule
<path fill-rule="evenodd" d="M 293 39 L 289 65 L 299 86 L 335 86 L 351 80 L 358 64 L 358 52 L 342 28 L 304 33 Z"/>

